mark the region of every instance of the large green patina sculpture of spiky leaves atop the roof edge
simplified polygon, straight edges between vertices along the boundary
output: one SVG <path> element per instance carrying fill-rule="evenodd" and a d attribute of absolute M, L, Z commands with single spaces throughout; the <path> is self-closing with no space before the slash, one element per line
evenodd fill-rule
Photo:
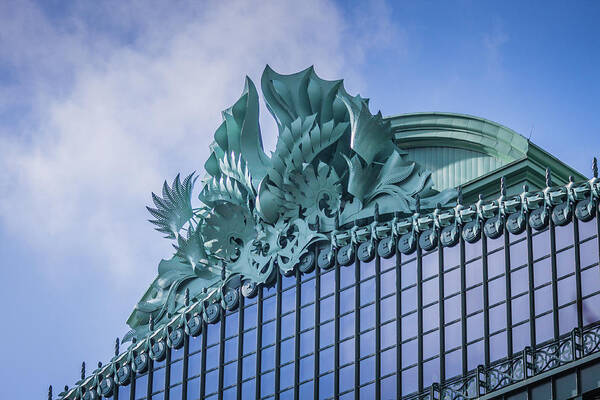
<path fill-rule="evenodd" d="M 215 132 L 198 206 L 194 174 L 152 194 L 151 222 L 176 252 L 160 262 L 128 320 L 128 337 L 145 335 L 150 316 L 160 323 L 183 307 L 186 289 L 204 303 L 220 301 L 230 285 L 290 273 L 337 227 L 376 209 L 408 215 L 417 198 L 424 209 L 455 199 L 454 189 L 432 189 L 430 172 L 406 160 L 390 123 L 341 80 L 323 80 L 312 67 L 280 75 L 267 66 L 261 86 L 279 130 L 271 157 L 262 147 L 258 93 L 246 78 Z"/>

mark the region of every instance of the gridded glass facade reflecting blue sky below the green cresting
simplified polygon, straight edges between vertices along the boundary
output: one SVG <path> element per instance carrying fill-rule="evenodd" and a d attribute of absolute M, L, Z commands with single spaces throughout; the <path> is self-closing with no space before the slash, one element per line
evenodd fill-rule
<path fill-rule="evenodd" d="M 598 259 L 594 218 L 278 275 L 217 323 L 202 322 L 182 348 L 167 348 L 164 361 L 150 360 L 113 398 L 423 392 L 600 320 Z"/>

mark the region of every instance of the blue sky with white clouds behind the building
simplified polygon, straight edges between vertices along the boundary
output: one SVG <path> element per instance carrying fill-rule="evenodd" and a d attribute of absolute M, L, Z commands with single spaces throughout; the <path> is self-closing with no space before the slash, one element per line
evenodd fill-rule
<path fill-rule="evenodd" d="M 110 358 L 171 252 L 150 192 L 202 175 L 246 74 L 315 65 L 372 111 L 488 118 L 589 174 L 599 18 L 595 2 L 0 3 L 0 398 Z"/>

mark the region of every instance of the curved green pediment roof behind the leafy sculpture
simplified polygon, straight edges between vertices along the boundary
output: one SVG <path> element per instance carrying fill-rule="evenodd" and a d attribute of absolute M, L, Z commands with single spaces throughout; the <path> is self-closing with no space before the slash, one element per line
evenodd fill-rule
<path fill-rule="evenodd" d="M 500 176 L 510 177 L 509 192 L 528 184 L 544 186 L 546 167 L 556 182 L 584 176 L 498 123 L 464 114 L 413 113 L 385 118 L 407 158 L 431 171 L 433 188 L 463 186 L 467 201 L 497 193 Z M 491 185 L 491 186 L 490 186 Z"/>

